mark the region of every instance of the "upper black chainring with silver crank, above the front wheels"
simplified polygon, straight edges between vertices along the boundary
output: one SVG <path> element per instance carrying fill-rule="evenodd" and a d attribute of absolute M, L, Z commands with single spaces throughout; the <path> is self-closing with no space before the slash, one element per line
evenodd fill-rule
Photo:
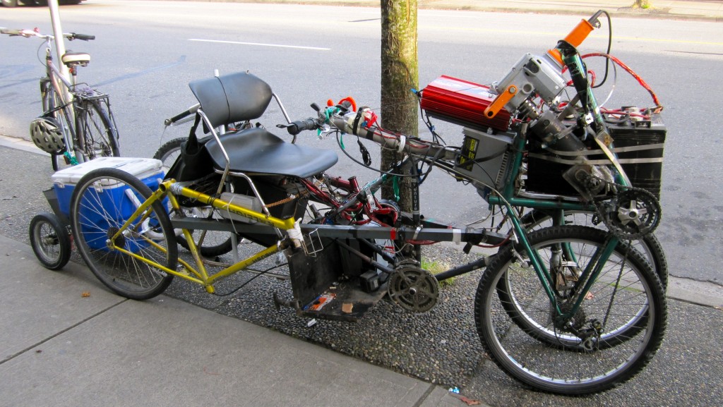
<path fill-rule="evenodd" d="M 594 185 L 599 182 L 607 184 L 607 187 L 614 187 L 615 191 L 619 190 L 620 187 L 623 187 L 623 185 L 615 184 L 615 182 L 607 181 L 599 176 L 594 176 L 590 173 L 587 175 L 588 178 L 586 179 L 584 185 L 585 188 L 588 189 L 588 192 L 591 192 L 588 188 L 589 185 Z M 594 179 L 594 181 L 592 181 L 592 179 Z M 643 236 L 651 234 L 658 227 L 662 207 L 660 207 L 660 202 L 657 200 L 655 195 L 647 189 L 632 186 L 623 188 L 625 188 L 625 191 L 615 194 L 609 203 L 593 200 L 593 204 L 602 219 L 602 223 L 607 226 L 607 229 L 612 234 L 621 240 L 642 239 Z M 624 210 L 621 206 L 621 204 L 627 203 L 632 205 L 633 202 L 636 202 L 636 207 L 634 208 L 630 207 Z M 638 202 L 643 203 L 642 208 L 637 207 Z M 645 212 L 641 214 L 641 210 L 645 210 Z M 621 215 L 625 215 L 627 219 L 620 219 Z M 641 218 L 639 215 L 645 216 L 644 218 Z M 641 226 L 640 223 L 643 223 L 643 225 Z"/>

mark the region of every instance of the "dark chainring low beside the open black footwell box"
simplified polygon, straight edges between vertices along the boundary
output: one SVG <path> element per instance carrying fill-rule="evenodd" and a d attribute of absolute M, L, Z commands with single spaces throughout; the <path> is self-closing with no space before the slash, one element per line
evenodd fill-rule
<path fill-rule="evenodd" d="M 429 271 L 401 265 L 389 278 L 388 294 L 395 304 L 407 311 L 427 312 L 437 304 L 440 286 Z"/>

